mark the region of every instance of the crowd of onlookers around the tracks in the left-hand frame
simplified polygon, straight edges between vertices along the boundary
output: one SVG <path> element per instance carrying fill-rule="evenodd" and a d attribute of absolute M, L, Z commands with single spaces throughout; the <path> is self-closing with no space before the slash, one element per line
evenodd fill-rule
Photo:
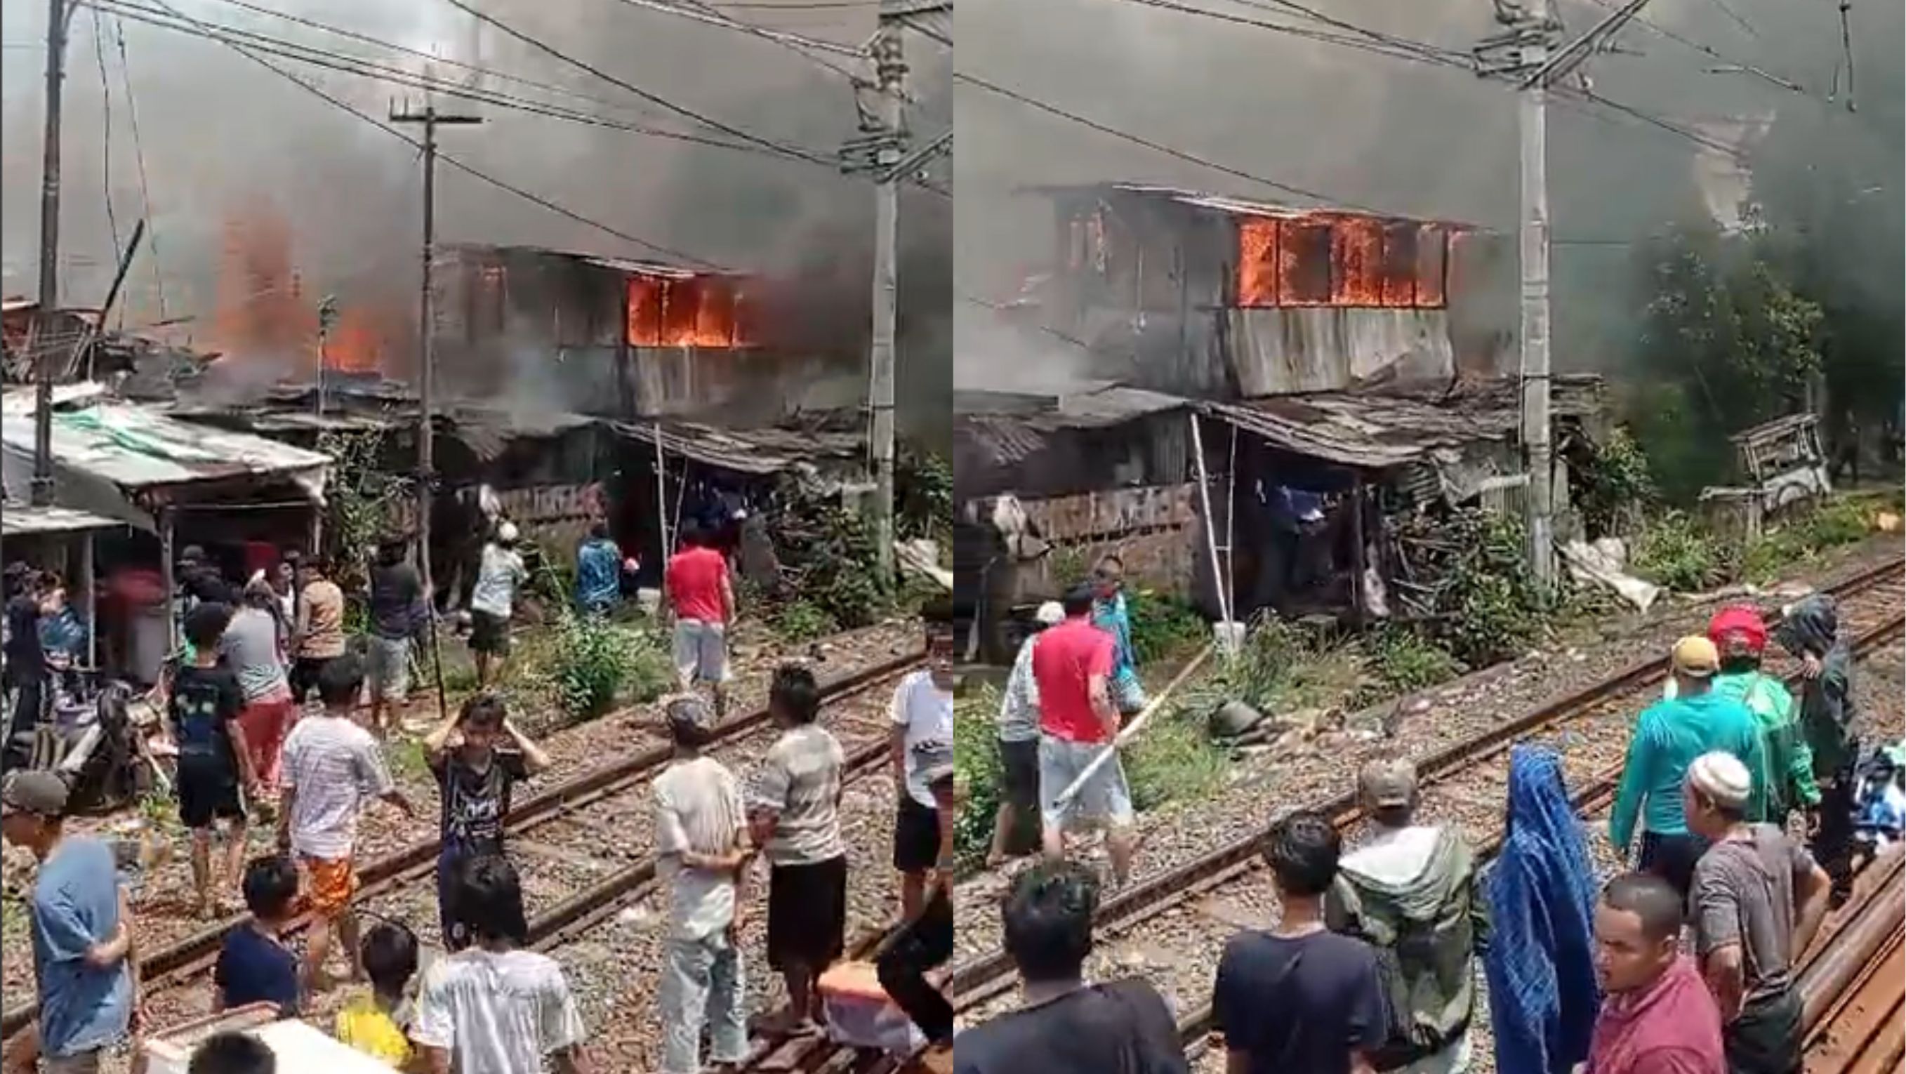
<path fill-rule="evenodd" d="M 619 592 L 612 596 L 608 583 L 619 585 L 625 569 L 600 545 L 614 548 L 598 527 L 579 556 L 578 604 L 589 613 L 614 611 Z M 661 1070 L 692 1074 L 703 1068 L 703 1026 L 715 1064 L 738 1063 L 749 1047 L 740 933 L 757 874 L 768 967 L 787 992 L 787 1007 L 760 1028 L 820 1032 L 820 981 L 846 952 L 850 874 L 839 817 L 846 754 L 820 722 L 814 674 L 787 665 L 770 689 L 781 735 L 747 779 L 707 756 L 726 703 L 734 587 L 724 556 L 696 526 L 684 527 L 665 577 L 680 691 L 663 705 L 675 760 L 654 781 L 658 872 L 669 906 L 667 958 L 656 971 Z M 335 1011 L 337 1040 L 400 1070 L 517 1074 L 545 1061 L 589 1070 L 585 1028 L 560 965 L 526 948 L 528 918 L 505 830 L 515 788 L 551 762 L 517 729 L 503 695 L 480 689 L 421 739 L 438 792 L 444 954 L 429 960 L 404 922 L 356 906 L 360 815 L 417 809 L 383 752 L 391 716 L 406 701 L 419 623 L 431 615 L 404 545 L 385 541 L 370 566 L 372 636 L 358 651 L 345 644 L 343 592 L 316 560 L 297 562 L 290 594 L 271 575 L 225 585 L 198 548 L 187 548 L 179 579 L 183 646 L 164 686 L 160 752 L 177 758 L 173 792 L 191 832 L 200 914 L 248 912 L 213 965 L 213 1007 L 265 1004 L 280 1017 Z M 515 533 L 497 526 L 482 548 L 473 600 L 471 646 L 486 684 L 507 655 L 522 581 Z M 953 950 L 951 606 L 930 607 L 924 621 L 926 666 L 898 684 L 890 705 L 902 924 L 875 954 L 875 969 L 943 1068 L 953 1011 L 928 973 Z M 316 706 L 307 708 L 313 693 Z M 4 1068 L 99 1070 L 107 1053 L 147 1028 L 137 927 L 114 851 L 67 832 L 67 783 L 57 773 L 10 771 L 4 802 L 6 840 L 40 861 L 29 899 L 38 1011 Z M 273 853 L 252 853 L 259 815 L 276 825 Z M 766 865 L 757 866 L 757 857 Z M 303 943 L 294 939 L 299 924 L 309 924 Z M 339 986 L 347 992 L 334 994 Z M 261 1064 L 269 1053 L 252 1044 L 206 1045 L 193 1070 L 269 1070 Z"/>

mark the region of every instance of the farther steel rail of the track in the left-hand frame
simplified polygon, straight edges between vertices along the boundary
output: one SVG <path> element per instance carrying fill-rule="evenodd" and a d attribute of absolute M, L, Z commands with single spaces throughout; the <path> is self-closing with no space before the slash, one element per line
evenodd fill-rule
<path fill-rule="evenodd" d="M 905 672 L 924 661 L 924 649 L 909 651 L 902 657 L 882 661 L 879 665 L 869 665 L 865 668 L 848 672 L 835 680 L 821 684 L 823 703 L 839 703 L 846 697 L 862 693 L 875 684 L 888 680 L 900 672 Z M 724 720 L 715 727 L 715 737 L 711 745 L 732 743 L 736 739 L 747 737 L 768 724 L 770 716 L 766 706 Z M 635 756 L 619 758 L 589 771 L 578 773 L 532 798 L 526 798 L 511 806 L 509 819 L 505 821 L 505 832 L 511 836 L 522 836 L 524 832 L 537 828 L 549 821 L 568 817 L 579 809 L 585 809 L 604 798 L 612 798 L 639 785 L 646 775 L 658 771 L 673 756 L 671 746 L 652 746 Z M 385 857 L 370 861 L 358 872 L 360 887 L 355 899 L 364 901 L 391 891 L 402 889 L 431 874 L 436 868 L 436 857 L 442 851 L 442 838 L 417 840 L 404 849 L 393 851 Z M 202 973 L 219 954 L 225 937 L 238 927 L 244 927 L 252 920 L 252 914 L 234 914 L 208 925 L 196 933 L 181 937 L 179 941 L 149 952 L 139 958 L 141 984 L 147 990 L 166 988 L 175 984 L 179 979 Z M 311 916 L 301 914 L 295 918 L 286 931 L 295 933 L 311 925 Z M 0 1015 L 0 1034 L 11 1040 L 21 1028 L 25 1028 L 38 1007 L 38 996 L 29 1002 L 8 1009 Z"/>

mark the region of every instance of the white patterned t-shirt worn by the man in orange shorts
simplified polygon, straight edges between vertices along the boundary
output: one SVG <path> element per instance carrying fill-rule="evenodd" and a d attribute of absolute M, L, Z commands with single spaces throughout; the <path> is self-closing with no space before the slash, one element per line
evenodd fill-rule
<path fill-rule="evenodd" d="M 395 785 L 370 731 L 345 716 L 305 716 L 284 739 L 284 786 L 292 798 L 292 849 L 334 861 L 351 855 L 366 798 Z"/>

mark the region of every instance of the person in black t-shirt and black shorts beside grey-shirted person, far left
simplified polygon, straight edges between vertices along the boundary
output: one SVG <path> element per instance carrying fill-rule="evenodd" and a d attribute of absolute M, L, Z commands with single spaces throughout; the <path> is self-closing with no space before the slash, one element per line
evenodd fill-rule
<path fill-rule="evenodd" d="M 244 691 L 238 676 L 219 663 L 219 638 L 231 623 L 231 607 L 200 604 L 185 615 L 185 638 L 193 644 L 193 663 L 172 676 L 166 703 L 168 731 L 179 750 L 179 823 L 193 832 L 193 884 L 198 889 L 198 916 L 217 910 L 212 885 L 212 832 L 225 830 L 225 885 L 238 887 L 244 874 L 246 806 L 244 792 L 257 794 L 252 752 L 246 750 Z"/>

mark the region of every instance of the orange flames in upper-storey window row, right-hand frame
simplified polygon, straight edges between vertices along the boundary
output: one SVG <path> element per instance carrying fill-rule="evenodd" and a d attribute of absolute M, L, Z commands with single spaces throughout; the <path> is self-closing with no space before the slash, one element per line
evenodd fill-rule
<path fill-rule="evenodd" d="M 1239 307 L 1439 308 L 1450 229 L 1355 213 L 1237 225 Z"/>

